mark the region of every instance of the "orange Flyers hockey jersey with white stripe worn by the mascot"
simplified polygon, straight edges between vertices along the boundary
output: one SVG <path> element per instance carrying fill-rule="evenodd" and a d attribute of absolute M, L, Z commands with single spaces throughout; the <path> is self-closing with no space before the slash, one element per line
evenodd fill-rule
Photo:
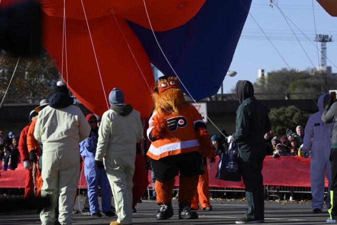
<path fill-rule="evenodd" d="M 163 136 L 151 143 L 147 155 L 153 159 L 159 159 L 168 155 L 187 153 L 199 150 L 199 141 L 197 139 L 194 124 L 204 122 L 198 110 L 191 104 L 183 105 L 178 113 L 167 112 L 169 130 L 166 130 Z M 147 136 L 152 131 L 153 121 L 158 119 L 158 114 L 154 112 L 149 120 Z"/>

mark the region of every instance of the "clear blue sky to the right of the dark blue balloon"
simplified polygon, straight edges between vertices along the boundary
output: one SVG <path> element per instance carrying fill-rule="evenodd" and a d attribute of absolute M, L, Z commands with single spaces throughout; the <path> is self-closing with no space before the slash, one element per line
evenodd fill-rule
<path fill-rule="evenodd" d="M 316 0 L 274 0 L 274 2 L 278 3 L 285 17 L 290 19 L 288 22 L 300 39 L 304 50 L 276 5 L 271 7 L 269 0 L 253 0 L 250 9 L 251 15 L 247 17 L 229 69 L 237 71 L 237 75 L 225 77 L 224 93 L 230 93 L 230 89 L 235 87 L 236 82 L 240 79 L 255 82 L 259 68 L 268 72 L 284 67 L 304 70 L 313 68 L 313 64 L 319 65 L 321 53 L 318 53 L 316 41 L 314 41 L 316 37 L 315 23 L 317 34 L 333 36 L 334 42 L 327 43 L 327 65 L 332 66 L 333 72 L 337 72 L 335 66 L 337 65 L 337 17 L 328 14 Z M 286 62 L 259 26 L 271 39 Z M 318 42 L 318 47 L 321 49 L 320 42 Z"/>

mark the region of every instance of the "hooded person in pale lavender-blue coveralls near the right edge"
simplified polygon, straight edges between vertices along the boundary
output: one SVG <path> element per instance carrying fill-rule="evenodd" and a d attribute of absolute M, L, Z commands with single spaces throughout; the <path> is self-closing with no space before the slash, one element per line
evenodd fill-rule
<path fill-rule="evenodd" d="M 304 130 L 303 149 L 311 148 L 311 164 L 310 164 L 310 181 L 311 192 L 313 196 L 312 207 L 320 208 L 322 210 L 324 205 L 324 184 L 325 184 L 325 171 L 329 180 L 328 193 L 330 193 L 331 184 L 331 135 L 333 132 L 334 123 L 324 123 L 321 119 L 322 112 L 324 110 L 324 96 L 320 96 L 318 100 L 319 111 L 312 114 L 307 122 Z M 312 140 L 313 139 L 313 140 Z M 330 194 L 326 200 L 327 207 L 331 207 Z"/>

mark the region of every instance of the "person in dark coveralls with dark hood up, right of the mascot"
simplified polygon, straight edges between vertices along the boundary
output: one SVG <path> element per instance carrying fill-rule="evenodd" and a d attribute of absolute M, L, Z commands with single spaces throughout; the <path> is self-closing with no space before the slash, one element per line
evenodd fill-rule
<path fill-rule="evenodd" d="M 267 107 L 254 97 L 250 81 L 239 80 L 235 90 L 240 105 L 236 111 L 236 131 L 229 140 L 238 142 L 239 168 L 248 203 L 246 216 L 236 223 L 263 223 L 265 187 L 261 171 L 266 156 L 264 135 L 271 129 L 271 122 Z"/>

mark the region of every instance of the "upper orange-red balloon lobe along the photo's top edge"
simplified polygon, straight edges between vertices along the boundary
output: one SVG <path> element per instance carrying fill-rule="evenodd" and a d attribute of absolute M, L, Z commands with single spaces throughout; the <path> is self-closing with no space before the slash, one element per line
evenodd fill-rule
<path fill-rule="evenodd" d="M 87 19 L 115 13 L 150 28 L 143 0 L 82 0 Z M 85 19 L 81 0 L 65 1 L 67 18 Z M 50 16 L 63 18 L 62 0 L 40 0 L 42 10 Z M 205 0 L 146 0 L 146 8 L 154 30 L 163 31 L 185 24 Z"/>

